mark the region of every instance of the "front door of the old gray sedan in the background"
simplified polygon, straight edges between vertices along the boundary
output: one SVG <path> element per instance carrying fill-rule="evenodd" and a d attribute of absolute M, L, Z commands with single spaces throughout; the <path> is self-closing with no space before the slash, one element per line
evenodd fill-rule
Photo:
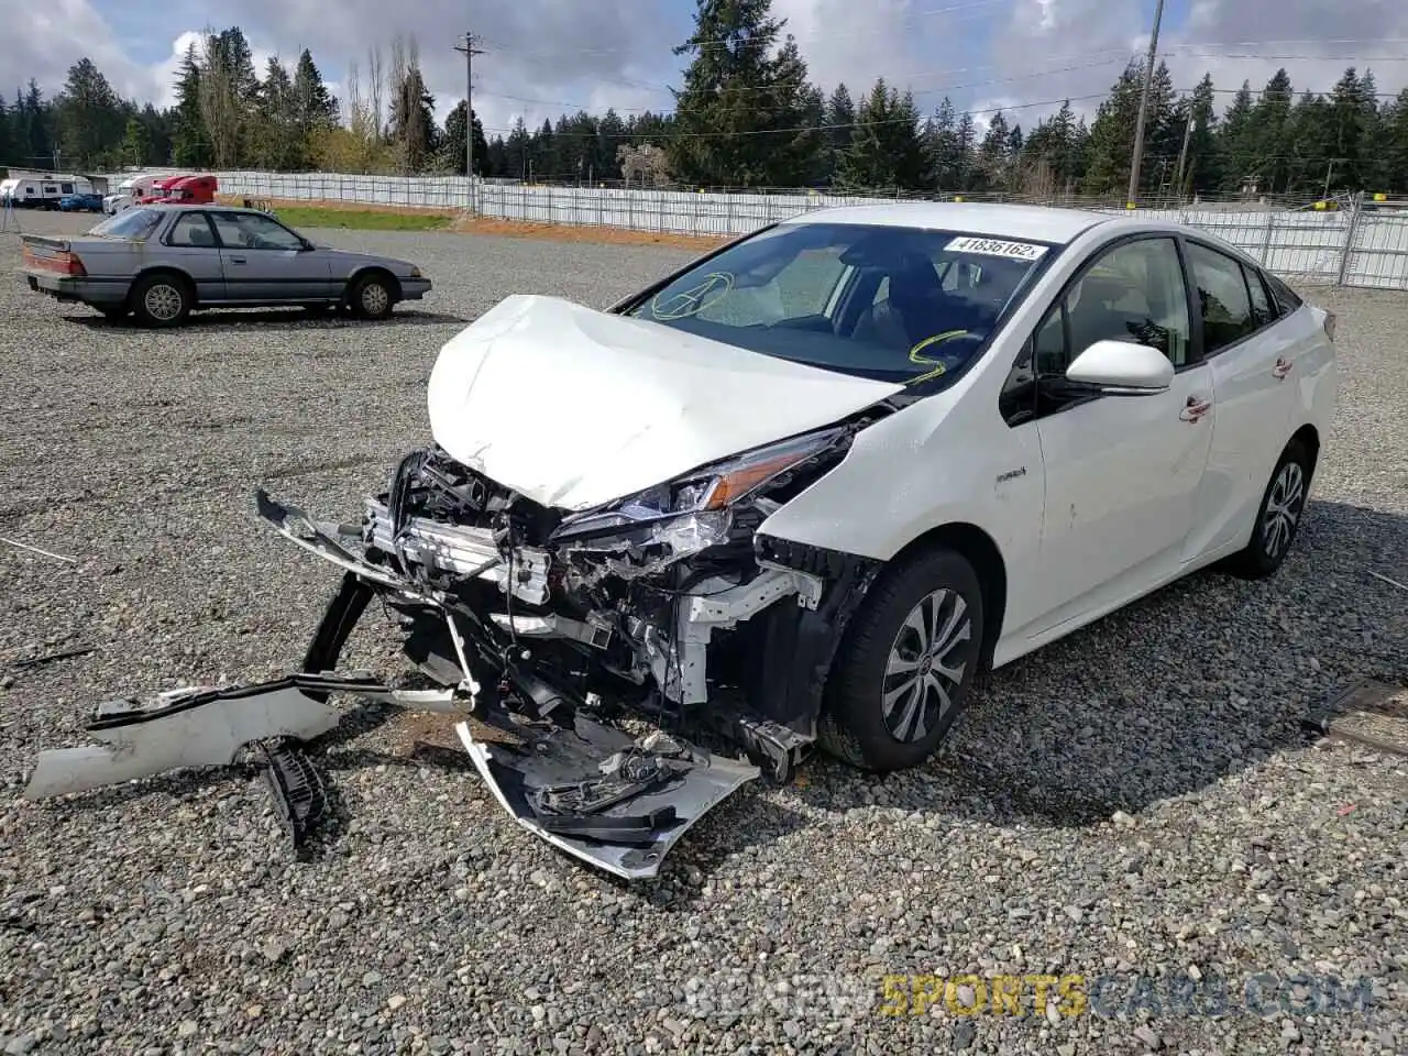
<path fill-rule="evenodd" d="M 230 300 L 301 304 L 334 294 L 325 256 L 273 217 L 224 210 L 211 210 L 210 217 Z"/>

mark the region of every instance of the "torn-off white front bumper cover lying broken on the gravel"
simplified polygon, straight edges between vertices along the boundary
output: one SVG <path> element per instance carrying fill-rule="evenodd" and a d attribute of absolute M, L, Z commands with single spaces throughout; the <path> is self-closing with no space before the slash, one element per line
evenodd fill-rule
<path fill-rule="evenodd" d="M 280 535 L 387 593 L 442 611 L 458 636 L 453 605 L 444 596 L 362 558 L 359 528 L 314 521 L 262 491 L 256 501 L 259 515 Z M 466 558 L 465 548 L 476 542 L 459 538 L 436 546 L 436 563 Z M 517 586 L 528 593 L 535 589 L 531 574 Z M 463 648 L 473 655 L 473 642 L 465 641 Z M 665 734 L 632 739 L 596 721 L 591 708 L 553 705 L 529 717 L 497 700 L 479 700 L 467 667 L 465 674 L 455 687 L 404 690 L 369 676 L 301 673 L 104 704 L 86 727 L 100 743 L 41 752 L 25 796 L 41 800 L 177 769 L 228 766 L 249 752 L 263 760 L 297 845 L 304 822 L 317 814 L 311 800 L 320 794 L 320 781 L 311 762 L 294 753 L 338 727 L 344 712 L 327 698 L 346 693 L 460 718 L 456 732 L 465 750 L 514 821 L 577 859 L 634 880 L 655 876 L 700 818 L 760 776 L 756 766 Z M 525 711 L 532 711 L 531 701 Z"/>

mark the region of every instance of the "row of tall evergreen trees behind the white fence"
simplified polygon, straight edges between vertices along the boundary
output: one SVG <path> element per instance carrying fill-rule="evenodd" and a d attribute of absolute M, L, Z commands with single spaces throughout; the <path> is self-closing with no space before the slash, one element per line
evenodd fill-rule
<path fill-rule="evenodd" d="M 31 80 L 13 106 L 0 101 L 0 163 L 463 173 L 473 137 L 482 176 L 614 180 L 650 146 L 655 179 L 687 186 L 1124 193 L 1142 63 L 1091 120 L 1066 103 L 1024 131 L 1017 111 L 960 111 L 948 99 L 925 114 L 883 77 L 859 101 L 845 84 L 826 96 L 770 7 L 697 0 L 694 32 L 676 48 L 691 59 L 672 113 L 563 114 L 536 128 L 520 118 L 491 138 L 463 100 L 436 122 L 414 38 L 351 63 L 337 100 L 307 49 L 291 68 L 270 58 L 260 76 L 238 27 L 210 31 L 187 52 L 169 110 L 120 99 L 87 58 L 52 99 Z M 1157 65 L 1142 196 L 1408 193 L 1408 90 L 1381 97 L 1371 72 L 1350 68 L 1329 93 L 1297 94 L 1283 69 L 1259 93 L 1243 83 L 1226 107 L 1218 94 L 1211 76 L 1178 92 Z"/>

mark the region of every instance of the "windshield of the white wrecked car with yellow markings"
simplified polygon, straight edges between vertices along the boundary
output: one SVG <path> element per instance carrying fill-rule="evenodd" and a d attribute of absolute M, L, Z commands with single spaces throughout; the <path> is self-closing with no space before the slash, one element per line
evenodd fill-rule
<path fill-rule="evenodd" d="M 950 373 L 1052 249 L 870 224 L 783 224 L 689 269 L 628 314 L 828 370 Z"/>

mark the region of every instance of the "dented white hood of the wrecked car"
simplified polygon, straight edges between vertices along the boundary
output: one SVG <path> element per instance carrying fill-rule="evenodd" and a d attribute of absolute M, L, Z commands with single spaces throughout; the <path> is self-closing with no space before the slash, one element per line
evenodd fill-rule
<path fill-rule="evenodd" d="M 427 403 L 452 458 L 543 505 L 586 510 L 901 387 L 517 294 L 445 344 Z"/>

